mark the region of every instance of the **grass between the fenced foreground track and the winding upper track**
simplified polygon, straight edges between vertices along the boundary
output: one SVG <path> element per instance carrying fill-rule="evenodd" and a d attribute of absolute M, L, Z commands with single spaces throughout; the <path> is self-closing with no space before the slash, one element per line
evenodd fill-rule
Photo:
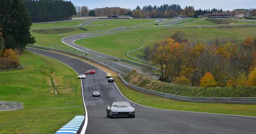
<path fill-rule="evenodd" d="M 154 22 L 154 21 L 156 20 L 154 19 L 120 19 L 120 20 L 102 19 L 99 21 L 92 22 L 92 24 L 89 24 L 89 25 L 96 25 L 96 26 L 83 27 L 85 29 L 88 29 L 88 31 L 80 30 L 79 27 L 54 28 L 54 29 L 31 29 L 31 34 L 36 38 L 36 43 L 35 43 L 36 45 L 46 46 L 46 47 L 50 47 L 53 45 L 67 46 L 61 41 L 62 38 L 67 36 L 86 33 L 86 32 L 108 30 L 116 27 L 143 24 L 143 23 Z M 69 22 L 56 22 L 56 23 L 64 23 L 65 25 L 67 25 L 67 23 Z M 105 24 L 105 25 L 97 25 L 97 24 Z M 48 24 L 42 24 L 42 25 L 48 25 Z"/>

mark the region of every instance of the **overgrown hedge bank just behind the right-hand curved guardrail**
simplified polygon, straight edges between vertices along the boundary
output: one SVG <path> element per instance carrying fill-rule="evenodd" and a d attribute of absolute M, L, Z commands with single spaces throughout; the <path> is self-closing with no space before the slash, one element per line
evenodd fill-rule
<path fill-rule="evenodd" d="M 136 72 L 124 77 L 129 83 L 157 92 L 187 97 L 256 97 L 256 87 L 191 87 L 150 79 Z"/>

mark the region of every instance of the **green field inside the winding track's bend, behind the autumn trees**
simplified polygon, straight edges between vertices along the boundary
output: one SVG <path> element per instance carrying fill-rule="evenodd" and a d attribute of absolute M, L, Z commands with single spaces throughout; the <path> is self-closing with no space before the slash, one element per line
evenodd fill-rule
<path fill-rule="evenodd" d="M 247 28 L 225 28 L 216 27 L 195 27 L 195 28 L 147 28 L 137 29 L 135 31 L 121 32 L 118 34 L 109 34 L 105 36 L 97 36 L 88 39 L 76 41 L 76 44 L 88 47 L 101 53 L 106 53 L 119 58 L 126 58 L 126 52 L 136 49 L 141 46 L 152 46 L 156 42 L 164 41 L 176 31 L 185 32 L 188 39 L 196 39 L 197 42 L 205 42 L 214 39 L 215 37 L 232 37 L 239 40 L 256 34 L 256 27 Z M 142 52 L 135 51 L 130 53 Z M 135 54 L 137 55 L 137 54 Z M 140 56 L 137 56 L 140 58 Z"/>

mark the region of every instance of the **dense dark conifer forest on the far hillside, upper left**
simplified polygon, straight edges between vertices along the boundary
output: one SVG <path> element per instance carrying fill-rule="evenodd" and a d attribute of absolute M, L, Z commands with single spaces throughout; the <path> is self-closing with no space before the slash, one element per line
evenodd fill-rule
<path fill-rule="evenodd" d="M 32 22 L 54 22 L 71 20 L 76 8 L 70 1 L 64 0 L 23 0 Z"/>

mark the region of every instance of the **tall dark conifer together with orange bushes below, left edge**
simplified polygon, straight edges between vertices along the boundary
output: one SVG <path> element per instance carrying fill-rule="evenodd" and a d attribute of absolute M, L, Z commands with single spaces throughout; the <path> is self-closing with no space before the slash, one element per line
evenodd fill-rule
<path fill-rule="evenodd" d="M 22 0 L 0 0 L 0 70 L 18 68 L 19 54 L 35 43 L 32 22 Z"/>

